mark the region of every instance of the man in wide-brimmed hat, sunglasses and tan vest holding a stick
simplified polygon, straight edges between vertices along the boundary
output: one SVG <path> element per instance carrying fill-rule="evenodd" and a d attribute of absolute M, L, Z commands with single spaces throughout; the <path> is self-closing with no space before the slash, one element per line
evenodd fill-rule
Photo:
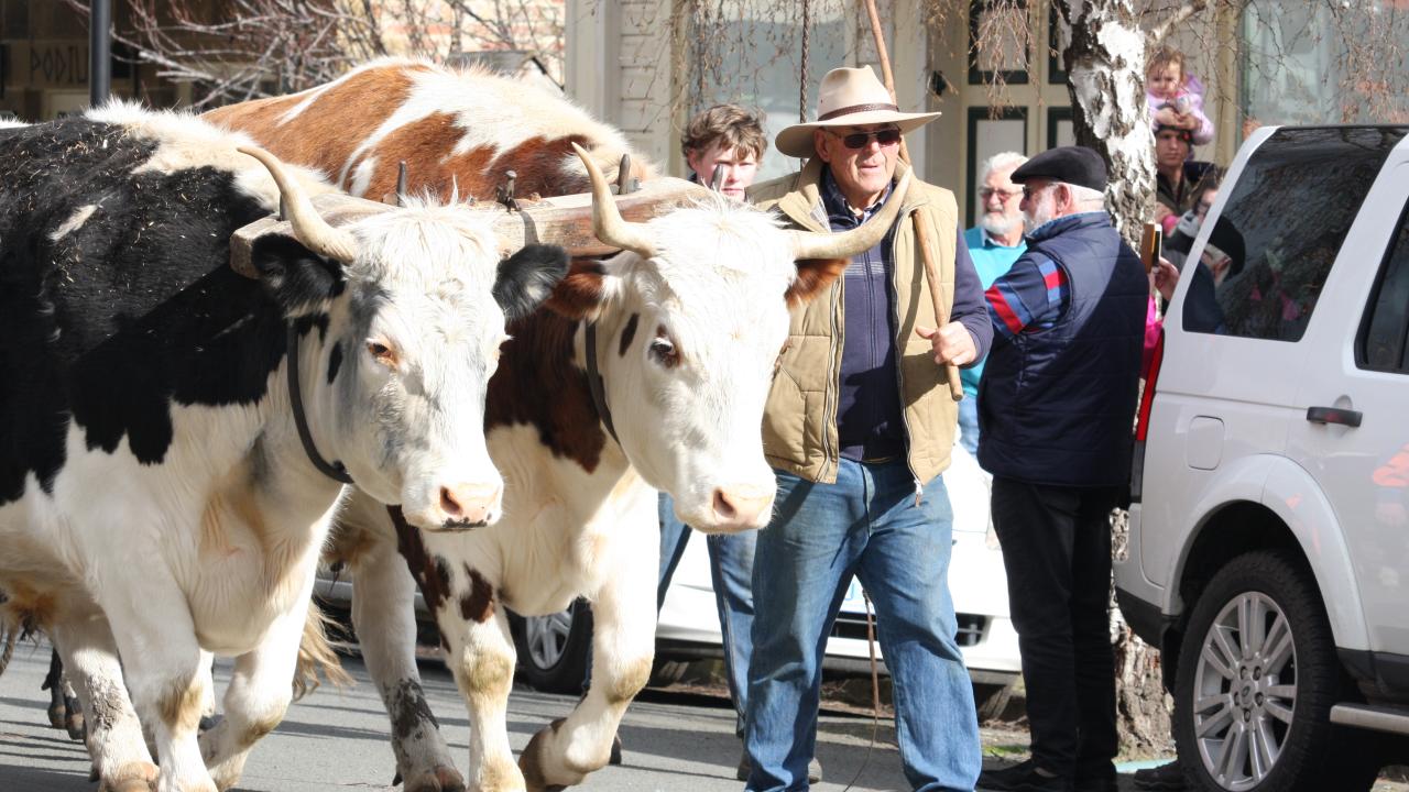
<path fill-rule="evenodd" d="M 871 69 L 821 80 L 817 120 L 778 134 L 807 158 L 750 197 L 807 231 L 852 228 L 886 202 L 893 231 L 793 310 L 764 416 L 778 506 L 754 561 L 754 655 L 745 747 L 751 791 L 807 789 L 821 652 L 852 575 L 869 592 L 895 681 L 900 760 L 916 789 L 974 789 L 974 693 L 947 583 L 952 512 L 940 474 L 957 409 L 943 364 L 969 365 L 992 340 L 954 194 L 912 178 L 898 193 L 900 135 L 938 113 L 900 113 Z M 940 326 L 917 224 L 934 241 Z"/>

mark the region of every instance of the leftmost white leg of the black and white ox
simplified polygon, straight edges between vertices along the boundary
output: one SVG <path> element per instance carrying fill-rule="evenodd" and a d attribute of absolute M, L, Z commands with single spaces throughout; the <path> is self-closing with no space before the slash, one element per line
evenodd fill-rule
<path fill-rule="evenodd" d="M 77 686 L 87 724 L 87 750 L 100 792 L 149 792 L 158 769 L 127 696 L 117 644 L 100 617 L 51 630 L 65 676 Z M 62 686 L 62 682 L 61 685 Z"/>

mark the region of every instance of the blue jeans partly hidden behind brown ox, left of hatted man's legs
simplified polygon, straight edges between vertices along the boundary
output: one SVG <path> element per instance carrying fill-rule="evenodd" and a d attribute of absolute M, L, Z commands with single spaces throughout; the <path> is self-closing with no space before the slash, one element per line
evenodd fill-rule
<path fill-rule="evenodd" d="M 661 578 L 655 589 L 655 609 L 665 603 L 675 567 L 685 555 L 685 545 L 693 531 L 675 519 L 671 496 L 661 493 Z M 744 713 L 748 712 L 748 657 L 752 654 L 754 629 L 754 545 L 758 531 L 738 534 L 710 534 L 709 571 L 714 582 L 714 607 L 719 610 L 719 631 L 724 637 L 724 674 L 728 693 L 734 699 L 737 720 L 734 730 L 744 736 Z"/>

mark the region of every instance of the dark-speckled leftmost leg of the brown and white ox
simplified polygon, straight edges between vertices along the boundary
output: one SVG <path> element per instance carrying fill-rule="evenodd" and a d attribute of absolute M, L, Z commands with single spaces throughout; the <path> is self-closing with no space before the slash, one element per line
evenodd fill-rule
<path fill-rule="evenodd" d="M 464 792 L 416 668 L 416 579 L 395 545 L 378 543 L 358 558 L 352 582 L 352 626 L 392 719 L 392 753 L 404 791 Z"/>

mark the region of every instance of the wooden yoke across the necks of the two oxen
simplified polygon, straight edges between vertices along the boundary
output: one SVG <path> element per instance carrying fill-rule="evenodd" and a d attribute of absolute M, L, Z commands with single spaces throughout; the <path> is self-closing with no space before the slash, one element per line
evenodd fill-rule
<path fill-rule="evenodd" d="M 658 176 L 643 183 L 637 192 L 617 196 L 617 210 L 628 221 L 645 223 L 668 211 L 709 194 L 704 187 L 675 179 Z M 519 211 L 510 211 L 497 203 L 476 206 L 465 204 L 465 211 L 485 213 L 493 223 L 502 255 L 513 254 L 524 245 L 550 244 L 568 251 L 571 258 L 592 258 L 613 255 L 617 248 L 602 244 L 592 233 L 592 193 L 576 193 L 548 199 L 517 199 Z M 396 211 L 395 207 L 373 200 L 352 197 L 342 193 L 324 193 L 313 197 L 318 214 L 333 227 L 345 225 L 369 214 Z M 265 234 L 293 235 L 293 225 L 278 217 L 259 218 L 237 230 L 230 238 L 230 266 L 245 278 L 259 278 L 251 262 L 255 240 Z"/>

